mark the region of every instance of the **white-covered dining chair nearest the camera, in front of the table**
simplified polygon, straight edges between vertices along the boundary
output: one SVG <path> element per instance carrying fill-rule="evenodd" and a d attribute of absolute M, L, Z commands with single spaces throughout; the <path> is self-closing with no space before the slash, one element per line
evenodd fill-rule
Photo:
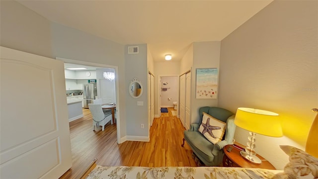
<path fill-rule="evenodd" d="M 105 116 L 101 104 L 88 104 L 88 108 L 93 116 L 93 130 L 95 130 L 95 126 L 102 126 L 102 131 L 104 131 L 105 125 L 111 120 L 111 117 Z"/>

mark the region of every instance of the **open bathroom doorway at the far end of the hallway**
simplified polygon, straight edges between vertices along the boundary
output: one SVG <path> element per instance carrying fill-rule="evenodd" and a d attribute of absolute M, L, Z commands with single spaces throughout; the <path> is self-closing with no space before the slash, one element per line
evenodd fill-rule
<path fill-rule="evenodd" d="M 173 107 L 178 114 L 179 101 L 179 78 L 178 76 L 160 76 L 159 77 L 159 114 L 161 116 L 161 107 Z"/>

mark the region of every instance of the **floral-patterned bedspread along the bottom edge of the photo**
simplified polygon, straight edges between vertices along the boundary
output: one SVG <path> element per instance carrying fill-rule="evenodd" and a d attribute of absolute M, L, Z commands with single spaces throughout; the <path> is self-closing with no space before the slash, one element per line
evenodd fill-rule
<path fill-rule="evenodd" d="M 86 179 L 271 179 L 282 172 L 226 167 L 101 167 Z"/>

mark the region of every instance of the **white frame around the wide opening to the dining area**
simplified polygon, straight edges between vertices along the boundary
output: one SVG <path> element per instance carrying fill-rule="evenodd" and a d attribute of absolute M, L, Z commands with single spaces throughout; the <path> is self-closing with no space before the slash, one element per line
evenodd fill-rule
<path fill-rule="evenodd" d="M 84 62 L 79 60 L 71 60 L 61 57 L 56 57 L 57 60 L 61 60 L 64 63 L 71 63 L 71 64 L 78 64 L 78 65 L 85 65 L 85 66 L 92 66 L 92 67 L 101 67 L 101 68 L 113 68 L 115 69 L 115 77 L 118 77 L 118 67 L 112 65 L 105 65 L 99 63 L 92 63 L 92 62 Z M 118 78 L 115 78 L 115 91 L 116 91 L 116 129 L 117 129 L 117 144 L 121 143 L 121 136 L 120 136 L 120 103 L 119 103 L 119 82 Z"/>

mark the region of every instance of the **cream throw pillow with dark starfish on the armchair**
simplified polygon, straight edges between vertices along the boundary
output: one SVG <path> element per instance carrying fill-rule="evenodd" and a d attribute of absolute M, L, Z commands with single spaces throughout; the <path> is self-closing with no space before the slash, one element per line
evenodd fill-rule
<path fill-rule="evenodd" d="M 202 123 L 199 131 L 211 143 L 216 144 L 221 141 L 225 132 L 226 123 L 220 121 L 209 114 L 203 112 Z"/>

